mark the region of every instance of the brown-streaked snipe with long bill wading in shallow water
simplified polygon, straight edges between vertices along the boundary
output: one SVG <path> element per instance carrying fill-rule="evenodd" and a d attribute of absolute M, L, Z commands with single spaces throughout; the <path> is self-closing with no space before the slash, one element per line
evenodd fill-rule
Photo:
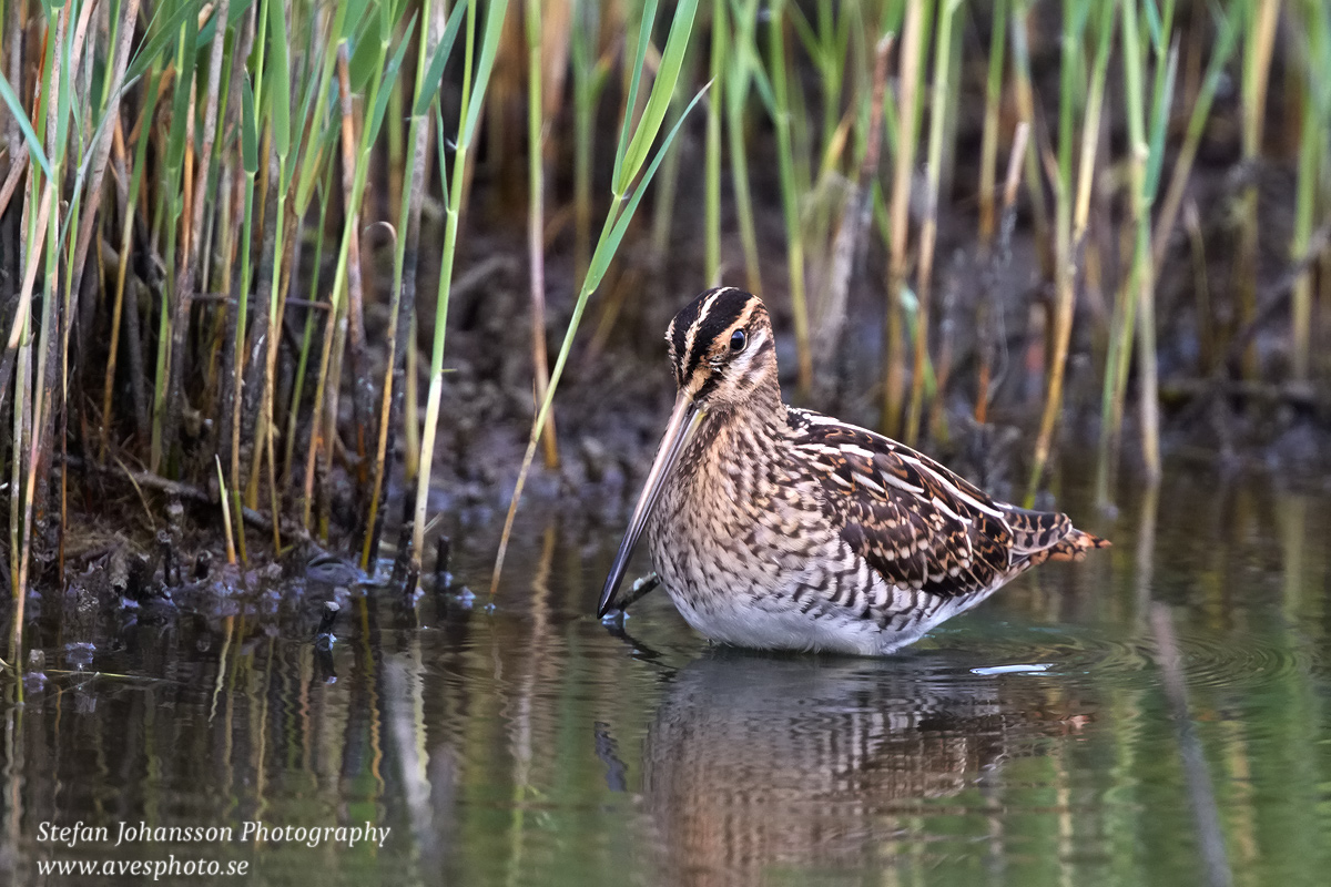
<path fill-rule="evenodd" d="M 1028 569 L 1109 545 L 896 440 L 787 406 L 753 294 L 701 293 L 666 342 L 675 406 L 602 618 L 644 531 L 660 585 L 711 641 L 852 656 L 894 653 Z"/>

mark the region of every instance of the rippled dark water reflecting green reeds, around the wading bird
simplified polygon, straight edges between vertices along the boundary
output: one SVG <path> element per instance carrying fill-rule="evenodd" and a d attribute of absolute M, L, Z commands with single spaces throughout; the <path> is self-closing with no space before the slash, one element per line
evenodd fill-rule
<path fill-rule="evenodd" d="M 248 871 L 162 883 L 1326 883 L 1327 497 L 1171 480 L 1082 523 L 1115 547 L 885 660 L 709 649 L 662 594 L 616 636 L 590 616 L 615 528 L 570 520 L 528 519 L 494 612 L 353 596 L 327 652 L 317 585 L 91 633 L 47 600 L 44 681 L 20 705 L 4 680 L 0 876 L 138 883 L 39 864 L 174 855 Z M 492 533 L 455 535 L 459 581 L 483 588 Z M 49 840 L 79 822 L 106 839 Z M 117 847 L 120 823 L 234 834 Z"/>

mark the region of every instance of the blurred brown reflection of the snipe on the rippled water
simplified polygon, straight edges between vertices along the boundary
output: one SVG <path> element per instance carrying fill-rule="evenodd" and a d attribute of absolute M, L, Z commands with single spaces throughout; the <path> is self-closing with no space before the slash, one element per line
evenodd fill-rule
<path fill-rule="evenodd" d="M 713 650 L 648 730 L 643 786 L 668 883 L 884 866 L 900 814 L 1020 753 L 1002 680 L 942 654 L 889 660 Z M 877 862 L 874 862 L 877 860 Z"/>

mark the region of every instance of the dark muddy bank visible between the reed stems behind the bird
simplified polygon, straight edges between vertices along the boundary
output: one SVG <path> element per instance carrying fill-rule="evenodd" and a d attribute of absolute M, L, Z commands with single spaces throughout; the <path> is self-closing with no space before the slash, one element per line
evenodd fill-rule
<path fill-rule="evenodd" d="M 772 197 L 772 191 L 764 189 L 757 193 Z M 696 197 L 684 191 L 681 207 Z M 495 233 L 500 222 L 498 210 L 480 215 L 463 241 L 462 271 L 449 318 L 449 372 L 430 499 L 430 512 L 441 516 L 441 523 L 427 541 L 427 582 L 433 581 L 435 540 L 445 529 L 478 529 L 502 521 L 530 432 L 534 395 L 524 253 L 520 242 Z M 945 305 L 941 326 L 949 330 L 956 358 L 940 422 L 930 426 L 921 448 L 993 493 L 1020 499 L 1029 476 L 1030 444 L 1042 402 L 1044 302 L 1038 262 L 1030 231 L 1018 227 L 1012 257 L 990 283 L 997 294 L 996 303 L 1004 307 L 1000 327 L 1006 335 L 1000 350 L 990 420 L 977 424 L 973 419 L 976 336 L 973 323 L 966 319 L 976 310 L 974 281 L 981 262 L 966 251 L 966 214 L 957 211 L 944 229 L 945 242 L 953 249 L 952 261 L 941 269 Z M 780 231 L 769 227 L 765 234 L 775 239 Z M 619 263 L 618 274 L 611 275 L 604 293 L 594 301 L 556 400 L 560 463 L 548 468 L 538 459 L 522 507 L 530 520 L 559 513 L 587 527 L 603 527 L 607 535 L 618 531 L 673 398 L 662 332 L 673 310 L 701 287 L 696 270 L 701 267 L 700 243 L 693 234 L 683 221 L 676 225 L 668 263 L 631 251 Z M 567 324 L 574 295 L 574 269 L 563 250 L 564 239 L 567 237 L 560 235 L 552 242 L 547 267 L 547 334 L 552 350 Z M 378 265 L 382 258 L 371 253 L 367 263 Z M 848 326 L 841 352 L 829 362 L 833 383 L 824 391 L 825 402 L 809 404 L 868 427 L 876 427 L 878 408 L 882 259 L 874 249 L 865 251 L 849 293 L 848 313 L 855 323 Z M 779 327 L 783 388 L 789 396 L 795 387 L 795 342 L 780 270 L 773 267 L 765 278 L 771 285 L 765 298 Z M 421 289 L 431 291 L 434 282 L 427 274 L 425 277 Z M 1179 291 L 1166 290 L 1171 279 L 1167 274 L 1162 278 L 1162 303 L 1183 298 Z M 1280 281 L 1276 277 L 1271 282 L 1271 299 L 1280 298 Z M 1175 286 L 1182 285 L 1175 282 Z M 614 320 L 607 322 L 606 306 L 616 287 L 622 290 L 618 295 L 623 303 Z M 1081 310 L 1094 313 L 1097 306 L 1083 299 Z M 1169 313 L 1162 311 L 1162 317 L 1167 328 L 1177 326 Z M 370 342 L 381 340 L 386 323 L 386 311 L 369 313 Z M 421 330 L 422 343 L 429 340 L 430 332 L 427 326 Z M 1278 332 L 1274 323 L 1254 331 L 1254 339 L 1271 362 L 1280 360 Z M 1162 440 L 1171 472 L 1219 477 L 1256 473 L 1283 488 L 1327 487 L 1331 404 L 1323 390 L 1275 382 L 1244 383 L 1223 374 L 1199 378 L 1189 371 L 1195 363 L 1195 340 L 1179 334 L 1162 335 L 1161 342 L 1162 366 L 1171 367 L 1162 379 Z M 382 372 L 383 355 L 371 355 L 371 374 L 377 378 Z M 1067 408 L 1054 452 L 1054 472 L 1042 493 L 1047 503 L 1057 500 L 1063 473 L 1086 476 L 1094 461 L 1099 423 L 1098 366 L 1091 336 L 1074 339 Z M 347 400 L 342 400 L 343 418 L 350 423 Z M 301 434 L 309 432 L 302 430 Z M 1119 476 L 1123 489 L 1142 483 L 1134 439 L 1133 418 L 1129 416 Z M 342 452 L 346 453 L 345 448 Z M 72 511 L 65 539 L 67 586 L 81 586 L 80 594 L 102 601 L 109 610 L 120 601 L 189 605 L 208 596 L 217 598 L 210 605 L 217 606 L 217 601 L 241 590 L 249 594 L 264 582 L 303 577 L 310 563 L 341 559 L 347 572 L 334 586 L 354 588 L 369 577 L 351 564 L 353 548 L 359 543 L 355 537 L 359 521 L 349 468 L 346 460 L 334 465 L 333 524 L 326 543 L 303 539 L 294 523 L 284 517 L 289 549 L 274 559 L 269 543 L 270 520 L 266 512 L 252 512 L 246 520 L 246 540 L 250 563 L 258 567 L 238 569 L 226 565 L 216 485 L 160 481 L 129 465 L 97 467 L 73 456 L 68 468 Z M 403 493 L 401 480 L 395 479 L 389 500 L 401 503 L 406 499 Z M 527 520 L 519 523 L 519 528 L 523 525 Z M 40 577 L 41 586 L 52 589 L 59 528 L 53 516 L 47 517 L 44 527 L 45 544 L 39 547 Z M 399 539 L 401 527 L 401 507 L 390 509 L 385 528 L 389 545 L 375 570 L 381 581 L 391 574 L 397 555 L 393 543 Z M 121 578 L 110 586 L 104 578 L 91 578 L 108 570 L 121 576 L 125 564 L 132 567 L 133 588 Z M 276 565 L 265 568 L 264 564 Z M 469 577 L 469 581 L 484 584 L 483 577 Z M 185 585 L 189 588 L 182 592 Z M 311 612 L 317 614 L 318 606 Z"/>

